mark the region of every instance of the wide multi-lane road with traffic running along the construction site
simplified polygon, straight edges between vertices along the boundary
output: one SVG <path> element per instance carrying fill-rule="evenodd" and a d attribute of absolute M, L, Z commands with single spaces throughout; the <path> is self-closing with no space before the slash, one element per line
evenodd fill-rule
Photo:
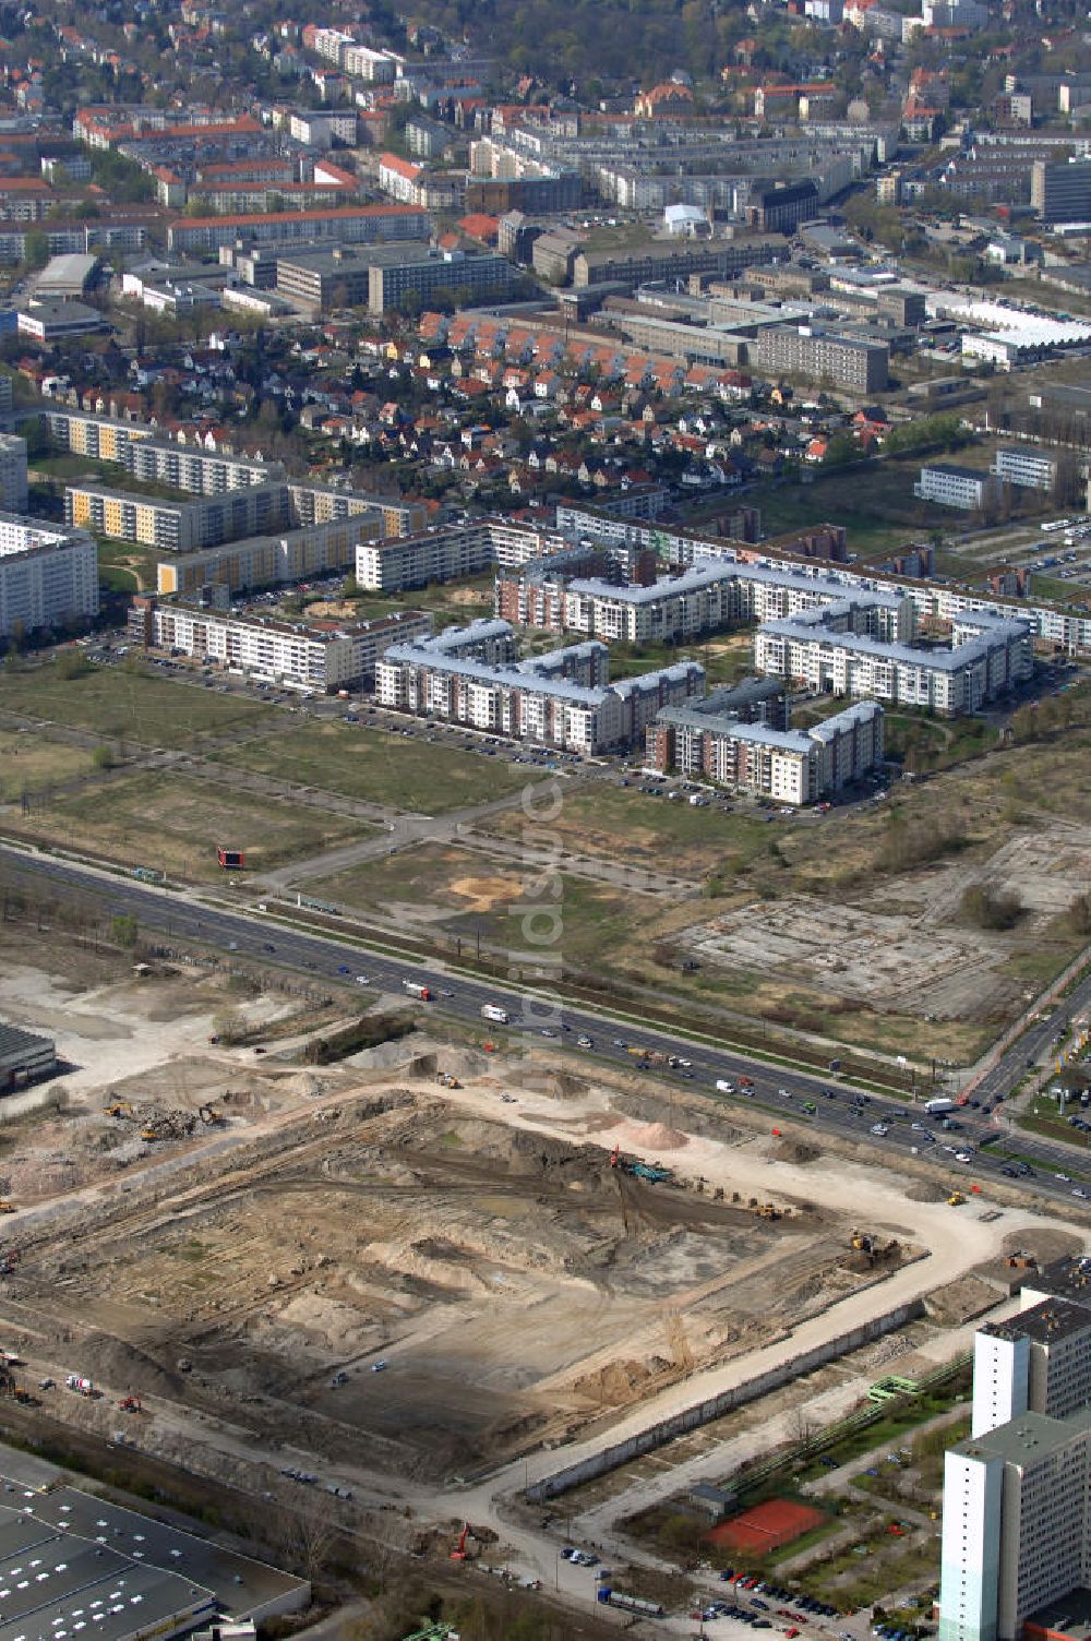
<path fill-rule="evenodd" d="M 200 901 L 190 893 L 156 889 L 130 883 L 90 866 L 57 860 L 49 855 L 28 853 L 0 845 L 0 858 L 11 876 L 25 876 L 30 889 L 49 883 L 54 888 L 72 888 L 92 893 L 105 901 L 108 916 L 130 914 L 146 932 L 156 932 L 169 942 L 195 942 L 220 952 L 253 957 L 277 963 L 315 980 L 359 986 L 361 999 L 377 993 L 409 998 L 405 983 L 425 983 L 433 1001 L 427 1008 L 450 1014 L 463 1022 L 472 1021 L 482 1034 L 502 1034 L 505 1049 L 520 1040 L 530 1049 L 551 1042 L 556 1050 L 625 1067 L 630 1072 L 643 1068 L 648 1088 L 663 1096 L 664 1116 L 669 1116 L 671 1090 L 692 1090 L 724 1099 L 727 1104 L 748 1104 L 763 1113 L 771 1127 L 779 1121 L 794 1119 L 822 1132 L 840 1134 L 874 1145 L 876 1152 L 891 1160 L 902 1155 L 920 1155 L 940 1163 L 943 1177 L 952 1185 L 968 1190 L 996 1180 L 1002 1168 L 1011 1168 L 1009 1152 L 1017 1152 L 1020 1162 L 1030 1167 L 1017 1182 L 1022 1188 L 1050 1198 L 1070 1198 L 1091 1191 L 1091 1155 L 1084 1136 L 1073 1131 L 1073 1144 L 1060 1144 L 1032 1137 L 1024 1132 L 1001 1132 L 983 1111 L 970 1106 L 955 1113 L 958 1129 L 947 1131 L 940 1118 L 924 1111 L 924 1098 L 899 1103 L 883 1096 L 865 1096 L 838 1085 L 835 1078 L 809 1075 L 789 1067 L 769 1065 L 745 1055 L 697 1042 L 682 1032 L 673 1034 L 661 1027 L 643 1027 L 628 1021 L 610 1019 L 609 1014 L 561 1003 L 543 993 L 514 991 L 489 980 L 477 980 L 443 963 L 422 963 L 415 958 L 397 958 L 389 953 L 363 948 L 333 934 L 300 932 L 285 927 L 276 917 L 254 911 L 228 911 Z M 361 983 L 366 981 L 366 988 Z M 1066 1009 L 1078 1006 L 1081 993 L 1091 994 L 1091 980 L 1070 998 Z M 484 1004 L 495 1004 L 509 1014 L 509 1022 L 491 1026 L 481 1016 Z M 988 1090 L 979 1090 L 986 1103 L 1009 1093 L 1024 1075 L 1027 1058 L 1040 1055 L 1060 1017 L 1035 1022 L 1025 1037 L 1009 1049 L 999 1065 L 988 1075 Z M 633 1050 L 655 1050 L 674 1057 L 676 1065 L 666 1067 Z M 510 1065 L 510 1058 L 507 1060 Z M 743 1096 L 719 1093 L 717 1081 L 738 1086 L 740 1076 L 750 1078 L 753 1088 Z M 512 1093 L 518 1096 L 518 1076 L 512 1076 Z M 804 1109 L 814 1106 L 814 1111 Z M 876 1132 L 876 1127 L 884 1132 Z M 958 1154 L 970 1160 L 958 1160 Z M 1012 1182 L 1016 1183 L 1016 1182 Z M 1075 1204 L 1073 1204 L 1075 1206 Z"/>

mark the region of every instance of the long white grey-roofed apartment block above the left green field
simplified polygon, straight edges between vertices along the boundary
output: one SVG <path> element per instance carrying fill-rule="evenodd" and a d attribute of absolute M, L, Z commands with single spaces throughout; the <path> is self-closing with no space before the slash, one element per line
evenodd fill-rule
<path fill-rule="evenodd" d="M 431 615 L 397 610 L 371 622 L 323 625 L 271 615 L 233 615 L 187 604 L 154 604 L 151 645 L 218 661 L 233 671 L 328 694 L 372 678 L 392 643 L 427 638 Z"/>

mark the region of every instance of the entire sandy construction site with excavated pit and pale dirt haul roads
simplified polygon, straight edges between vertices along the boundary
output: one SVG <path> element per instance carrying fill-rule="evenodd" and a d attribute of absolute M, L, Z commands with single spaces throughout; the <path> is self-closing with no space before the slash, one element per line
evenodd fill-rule
<path fill-rule="evenodd" d="M 308 1543 L 333 1511 L 448 1580 L 464 1561 L 535 1588 L 556 1557 L 541 1485 L 632 1444 L 561 1497 L 637 1588 L 663 1544 L 625 1523 L 791 1441 L 801 1410 L 927 1378 L 1007 1291 L 989 1267 L 1061 1234 L 802 1106 L 769 1127 L 669 1091 L 651 1049 L 509 1052 L 372 986 L 363 1017 L 390 1035 L 323 1063 L 361 1021 L 348 983 L 18 935 L 0 924 L 0 1011 L 56 1035 L 61 1075 L 0 1103 L 8 1424 L 241 1488 Z"/>

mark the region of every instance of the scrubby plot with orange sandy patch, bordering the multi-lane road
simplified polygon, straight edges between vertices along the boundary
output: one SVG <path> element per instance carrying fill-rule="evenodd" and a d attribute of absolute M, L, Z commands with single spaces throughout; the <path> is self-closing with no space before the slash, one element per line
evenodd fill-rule
<path fill-rule="evenodd" d="M 448 939 L 461 937 L 472 948 L 477 935 L 487 945 L 525 953 L 541 922 L 523 922 L 546 903 L 527 898 L 528 875 L 472 850 L 428 845 L 369 862 L 312 884 L 315 894 L 349 911 L 372 911 L 417 922 L 422 930 L 440 926 Z M 551 930 L 558 912 L 551 960 L 566 967 L 600 963 L 610 950 L 623 950 L 660 911 L 651 896 L 632 894 L 579 878 L 561 878 L 559 901 L 548 903 Z M 546 947 L 535 950 L 538 960 Z"/>

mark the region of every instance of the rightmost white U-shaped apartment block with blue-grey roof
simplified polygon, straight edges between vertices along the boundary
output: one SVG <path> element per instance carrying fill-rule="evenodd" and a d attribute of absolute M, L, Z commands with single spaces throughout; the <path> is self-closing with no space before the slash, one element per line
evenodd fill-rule
<path fill-rule="evenodd" d="M 855 630 L 853 612 L 855 599 L 845 599 L 768 622 L 755 633 L 755 668 L 820 694 L 866 696 L 942 717 L 978 712 L 1034 670 L 1027 622 L 963 617 L 950 650 L 912 650 Z"/>

